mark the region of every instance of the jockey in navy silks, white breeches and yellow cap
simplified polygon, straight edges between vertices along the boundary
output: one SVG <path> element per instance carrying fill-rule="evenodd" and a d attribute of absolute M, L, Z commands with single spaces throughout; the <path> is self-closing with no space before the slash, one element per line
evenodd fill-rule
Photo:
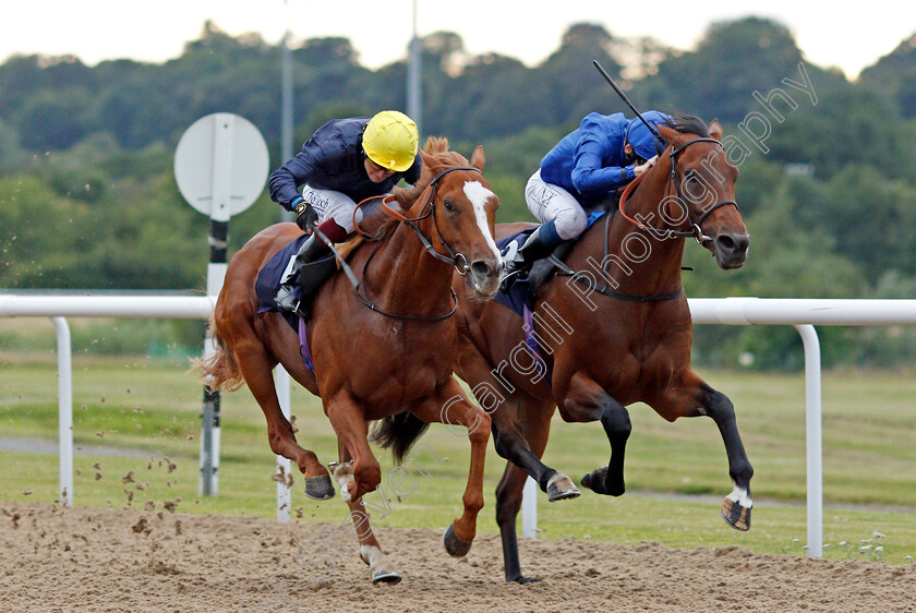
<path fill-rule="evenodd" d="M 389 193 L 401 179 L 410 184 L 420 179 L 423 159 L 418 152 L 419 140 L 413 120 L 394 110 L 371 119 L 328 121 L 296 157 L 270 175 L 270 199 L 296 213 L 302 230 L 314 225 L 332 243 L 342 242 L 355 230 L 357 203 Z M 316 233 L 303 243 L 277 292 L 280 309 L 306 316 L 294 284 L 303 265 L 329 253 Z M 313 279 L 313 289 L 323 280 Z"/>

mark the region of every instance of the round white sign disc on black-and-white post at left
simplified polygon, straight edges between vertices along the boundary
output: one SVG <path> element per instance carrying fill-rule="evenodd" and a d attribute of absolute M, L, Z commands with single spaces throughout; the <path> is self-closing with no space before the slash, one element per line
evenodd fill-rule
<path fill-rule="evenodd" d="M 181 135 L 174 178 L 188 204 L 228 220 L 251 206 L 267 180 L 267 143 L 249 120 L 229 112 L 202 117 Z"/>

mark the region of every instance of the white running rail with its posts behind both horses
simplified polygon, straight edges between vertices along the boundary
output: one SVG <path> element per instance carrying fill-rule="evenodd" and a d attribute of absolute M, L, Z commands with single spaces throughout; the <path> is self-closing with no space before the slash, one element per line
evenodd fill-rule
<path fill-rule="evenodd" d="M 0 293 L 0 316 L 51 317 L 58 335 L 60 495 L 73 504 L 73 389 L 70 329 L 63 317 L 207 318 L 215 297 L 74 296 Z M 808 555 L 823 553 L 823 471 L 821 465 L 821 369 L 815 325 L 885 326 L 916 324 L 916 300 L 691 298 L 695 324 L 792 325 L 805 348 Z M 289 380 L 286 381 L 288 387 Z M 281 386 L 282 387 L 282 386 Z M 289 393 L 279 390 L 288 409 Z M 282 465 L 281 465 L 282 466 Z M 288 470 L 288 462 L 284 466 Z M 289 492 L 277 488 L 278 518 L 289 517 Z M 534 536 L 537 506 L 523 504 L 522 533 Z M 533 514 L 533 515 L 532 515 Z"/>

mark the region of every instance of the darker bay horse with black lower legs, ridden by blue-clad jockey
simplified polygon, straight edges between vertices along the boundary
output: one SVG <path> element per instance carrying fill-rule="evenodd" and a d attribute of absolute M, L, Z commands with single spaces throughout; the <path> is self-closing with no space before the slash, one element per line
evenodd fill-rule
<path fill-rule="evenodd" d="M 665 152 L 628 185 L 619 209 L 594 223 L 565 264 L 556 261 L 559 273 L 537 290 L 525 324 L 493 301 L 459 302 L 455 370 L 491 413 L 496 452 L 510 460 L 496 490 L 508 581 L 530 580 L 521 574 L 515 528 L 526 478 L 552 501 L 578 495 L 575 488 L 551 491 L 552 481 L 566 478 L 539 459 L 555 407 L 567 422 L 601 421 L 610 462 L 581 483 L 613 496 L 624 493 L 627 405 L 646 402 L 668 421 L 712 418 L 734 483 L 722 515 L 739 530 L 750 525 L 754 471 L 732 402 L 690 368 L 692 327 L 680 283 L 685 238 L 696 238 L 722 268 L 744 264 L 750 239 L 734 200 L 738 172 L 723 152 L 718 121 L 707 127 L 682 116 L 659 130 Z M 497 239 L 528 226 L 501 224 Z M 533 337 L 526 335 L 532 327 Z M 525 351 L 534 344 L 540 347 Z"/>

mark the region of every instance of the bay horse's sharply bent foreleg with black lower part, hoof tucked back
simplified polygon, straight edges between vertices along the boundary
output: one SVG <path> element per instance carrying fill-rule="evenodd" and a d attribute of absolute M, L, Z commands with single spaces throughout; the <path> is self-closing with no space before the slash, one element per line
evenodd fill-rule
<path fill-rule="evenodd" d="M 566 396 L 559 405 L 559 413 L 568 422 L 601 421 L 611 443 L 611 460 L 607 466 L 582 477 L 582 486 L 599 494 L 622 495 L 626 491 L 624 456 L 632 430 L 626 407 L 612 398 L 591 377 L 578 372 L 569 382 Z"/>

